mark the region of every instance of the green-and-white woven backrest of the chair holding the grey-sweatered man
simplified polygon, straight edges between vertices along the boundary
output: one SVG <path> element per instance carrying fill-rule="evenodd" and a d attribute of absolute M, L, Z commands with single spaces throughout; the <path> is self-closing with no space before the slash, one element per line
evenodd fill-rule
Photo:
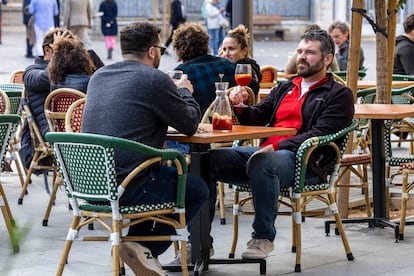
<path fill-rule="evenodd" d="M 187 166 L 184 156 L 178 151 L 155 149 L 127 139 L 90 133 L 49 132 L 46 139 L 53 144 L 69 198 L 104 202 L 119 199 L 123 189 L 116 182 L 116 149 L 132 151 L 148 158 L 120 183 L 123 188 L 146 167 L 161 160 L 178 159 L 179 171 L 183 172 L 178 180 L 178 189 L 181 192 L 185 190 Z M 177 204 L 183 207 L 184 198 L 177 198 Z"/>

